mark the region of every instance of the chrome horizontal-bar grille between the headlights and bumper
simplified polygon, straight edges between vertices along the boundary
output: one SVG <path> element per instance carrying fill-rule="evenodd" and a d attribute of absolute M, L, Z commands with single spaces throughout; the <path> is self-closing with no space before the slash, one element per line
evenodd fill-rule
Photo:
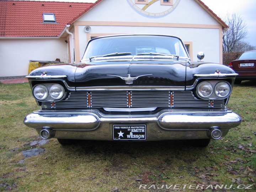
<path fill-rule="evenodd" d="M 90 98 L 90 99 L 89 99 Z M 41 102 L 42 108 L 223 108 L 223 100 L 201 100 L 192 91 L 81 91 L 70 92 L 64 101 Z M 172 99 L 171 99 L 172 98 Z M 89 101 L 90 100 L 90 101 Z M 171 102 L 172 100 L 172 102 Z M 212 102 L 212 106 L 211 106 Z"/>

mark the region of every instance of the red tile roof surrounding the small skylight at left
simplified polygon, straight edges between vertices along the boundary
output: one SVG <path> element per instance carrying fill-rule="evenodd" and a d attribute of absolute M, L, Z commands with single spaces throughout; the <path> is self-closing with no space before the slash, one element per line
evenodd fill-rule
<path fill-rule="evenodd" d="M 0 37 L 58 37 L 70 20 L 92 3 L 1 1 Z M 57 23 L 42 23 L 43 13 L 54 13 Z"/>

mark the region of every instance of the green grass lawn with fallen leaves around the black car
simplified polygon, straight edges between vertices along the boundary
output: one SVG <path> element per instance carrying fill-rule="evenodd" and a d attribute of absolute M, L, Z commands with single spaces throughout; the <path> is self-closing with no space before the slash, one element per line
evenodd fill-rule
<path fill-rule="evenodd" d="M 234 86 L 228 107 L 241 116 L 242 123 L 206 148 L 185 141 L 85 141 L 62 146 L 57 139 L 30 146 L 39 138 L 23 118 L 39 106 L 29 84 L 0 84 L 0 88 L 0 191 L 164 192 L 175 184 L 208 186 L 205 191 L 255 191 L 255 82 Z M 25 159 L 22 151 L 32 148 L 45 151 Z M 146 189 L 139 189 L 140 184 Z M 231 188 L 212 190 L 216 185 Z M 247 185 L 254 186 L 233 189 Z"/>

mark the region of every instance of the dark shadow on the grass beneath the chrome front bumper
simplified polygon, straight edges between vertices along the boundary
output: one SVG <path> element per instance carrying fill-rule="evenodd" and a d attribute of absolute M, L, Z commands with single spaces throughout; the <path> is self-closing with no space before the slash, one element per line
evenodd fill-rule
<path fill-rule="evenodd" d="M 82 154 L 106 154 L 106 155 L 121 155 L 129 154 L 136 158 L 143 154 L 180 154 L 185 156 L 193 156 L 195 151 L 200 154 L 205 154 L 209 150 L 206 148 L 194 147 L 189 140 L 167 140 L 155 142 L 114 142 L 114 141 L 94 141 L 81 140 L 74 145 L 62 146 L 64 150 L 70 153 Z"/>

